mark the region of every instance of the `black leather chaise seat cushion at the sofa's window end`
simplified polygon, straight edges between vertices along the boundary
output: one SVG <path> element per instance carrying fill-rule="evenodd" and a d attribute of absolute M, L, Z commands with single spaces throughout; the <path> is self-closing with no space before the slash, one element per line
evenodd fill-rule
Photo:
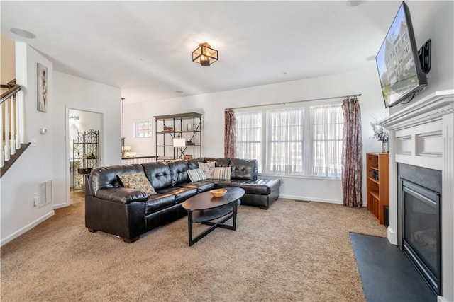
<path fill-rule="evenodd" d="M 241 187 L 246 194 L 269 195 L 279 189 L 281 181 L 278 178 L 259 180 L 223 180 L 216 182 L 216 187 Z"/>

